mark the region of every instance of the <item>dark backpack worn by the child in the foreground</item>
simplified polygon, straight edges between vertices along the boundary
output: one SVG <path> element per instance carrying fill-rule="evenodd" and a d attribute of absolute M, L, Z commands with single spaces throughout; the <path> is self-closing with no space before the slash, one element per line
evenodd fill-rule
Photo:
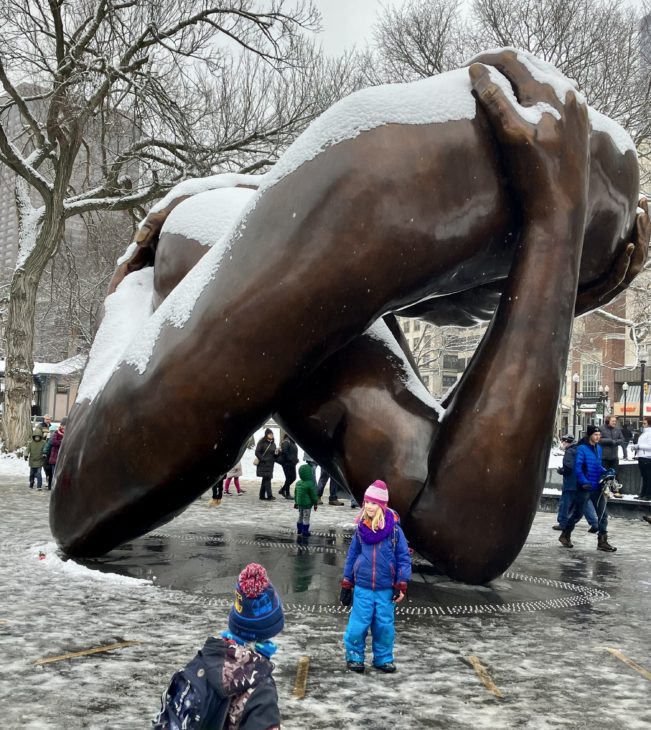
<path fill-rule="evenodd" d="M 152 721 L 154 730 L 221 730 L 229 697 L 219 697 L 206 678 L 206 663 L 197 654 L 172 675 L 161 697 L 161 709 Z"/>

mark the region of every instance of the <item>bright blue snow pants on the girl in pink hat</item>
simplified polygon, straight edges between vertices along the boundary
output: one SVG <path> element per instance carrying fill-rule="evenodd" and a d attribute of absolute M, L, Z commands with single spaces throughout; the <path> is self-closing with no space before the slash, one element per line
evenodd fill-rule
<path fill-rule="evenodd" d="M 372 591 L 355 586 L 353 607 L 344 634 L 346 661 L 364 662 L 366 635 L 371 629 L 373 664 L 380 666 L 393 661 L 395 606 L 393 590 Z"/>

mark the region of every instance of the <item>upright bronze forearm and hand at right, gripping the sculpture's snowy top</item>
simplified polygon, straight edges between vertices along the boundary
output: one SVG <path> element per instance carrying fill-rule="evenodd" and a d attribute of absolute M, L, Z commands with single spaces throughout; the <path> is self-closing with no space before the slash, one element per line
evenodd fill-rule
<path fill-rule="evenodd" d="M 499 575 L 535 515 L 569 347 L 588 185 L 581 99 L 569 90 L 561 101 L 515 55 L 500 68 L 519 99 L 547 105 L 536 118 L 487 66 L 470 67 L 523 211 L 522 233 L 489 332 L 440 424 L 428 483 L 405 519 L 414 546 L 468 582 Z"/>

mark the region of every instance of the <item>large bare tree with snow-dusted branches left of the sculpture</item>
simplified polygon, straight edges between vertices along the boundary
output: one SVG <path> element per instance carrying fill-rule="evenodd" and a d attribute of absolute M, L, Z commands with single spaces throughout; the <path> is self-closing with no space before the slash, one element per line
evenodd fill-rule
<path fill-rule="evenodd" d="M 66 222 L 137 209 L 188 176 L 273 161 L 329 103 L 308 88 L 333 71 L 304 40 L 317 22 L 308 0 L 0 5 L 0 163 L 15 175 L 19 223 L 5 448 L 29 430 L 36 292 Z"/>

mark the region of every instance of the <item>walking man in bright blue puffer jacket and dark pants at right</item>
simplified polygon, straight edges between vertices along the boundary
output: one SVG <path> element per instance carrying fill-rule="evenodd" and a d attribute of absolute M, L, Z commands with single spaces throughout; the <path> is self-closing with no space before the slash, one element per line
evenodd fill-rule
<path fill-rule="evenodd" d="M 585 502 L 590 499 L 599 520 L 597 550 L 614 553 L 617 548 L 608 542 L 608 502 L 600 484 L 601 477 L 606 472 L 601 464 L 600 439 L 599 426 L 590 425 L 586 429 L 585 437 L 579 442 L 574 465 L 577 482 L 576 496 L 570 516 L 558 539 L 563 547 L 574 547 L 571 539 L 572 530 L 583 515 Z"/>

